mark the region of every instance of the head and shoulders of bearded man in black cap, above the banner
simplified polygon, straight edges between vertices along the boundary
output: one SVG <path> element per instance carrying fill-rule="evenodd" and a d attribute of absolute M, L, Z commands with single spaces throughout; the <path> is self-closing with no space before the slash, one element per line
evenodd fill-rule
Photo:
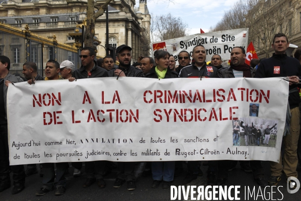
<path fill-rule="evenodd" d="M 119 66 L 108 71 L 109 77 L 144 77 L 143 72 L 139 68 L 130 65 L 131 47 L 127 45 L 117 47 L 116 59 L 119 61 Z"/>

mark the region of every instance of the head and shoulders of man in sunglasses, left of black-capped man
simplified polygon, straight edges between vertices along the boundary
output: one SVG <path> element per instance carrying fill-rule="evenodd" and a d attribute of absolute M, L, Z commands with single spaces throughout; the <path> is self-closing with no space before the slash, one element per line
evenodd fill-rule
<path fill-rule="evenodd" d="M 84 47 L 79 55 L 82 66 L 73 72 L 72 77 L 68 78 L 69 81 L 93 77 L 107 77 L 108 72 L 99 67 L 96 61 L 94 61 L 95 56 L 96 54 L 93 48 Z"/>

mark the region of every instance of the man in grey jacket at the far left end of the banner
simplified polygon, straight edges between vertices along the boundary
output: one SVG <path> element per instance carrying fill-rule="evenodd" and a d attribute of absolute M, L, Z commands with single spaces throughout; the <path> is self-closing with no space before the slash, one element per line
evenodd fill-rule
<path fill-rule="evenodd" d="M 7 92 L 10 82 L 22 82 L 21 77 L 10 73 L 11 61 L 0 56 L 0 192 L 11 187 L 8 144 Z M 21 192 L 25 184 L 24 165 L 12 165 L 14 187 L 12 194 Z"/>

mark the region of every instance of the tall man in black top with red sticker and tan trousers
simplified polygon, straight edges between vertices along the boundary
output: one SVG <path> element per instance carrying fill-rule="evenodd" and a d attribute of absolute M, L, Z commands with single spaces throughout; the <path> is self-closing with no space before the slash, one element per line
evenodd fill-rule
<path fill-rule="evenodd" d="M 284 34 L 275 34 L 272 44 L 272 48 L 274 49 L 275 53 L 273 53 L 272 57 L 260 62 L 255 75 L 256 78 L 288 76 L 289 80 L 288 104 L 290 108 L 289 112 L 291 113 L 289 134 L 283 136 L 283 164 L 281 154 L 279 163 L 270 162 L 271 176 L 268 182 L 271 185 L 277 185 L 278 181 L 280 181 L 282 170 L 284 171 L 286 178 L 290 176 L 298 176 L 296 167 L 298 164 L 297 143 L 300 132 L 300 111 L 298 108 L 300 97 L 297 86 L 300 85 L 298 83 L 301 75 L 301 65 L 297 59 L 286 56 L 285 52 L 288 46 L 289 43 Z"/>

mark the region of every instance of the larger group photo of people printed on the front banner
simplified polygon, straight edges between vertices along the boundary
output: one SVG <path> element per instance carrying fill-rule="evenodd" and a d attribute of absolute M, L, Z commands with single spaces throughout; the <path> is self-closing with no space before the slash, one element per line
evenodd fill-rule
<path fill-rule="evenodd" d="M 233 146 L 275 147 L 277 124 L 277 120 L 239 118 L 233 121 Z"/>

